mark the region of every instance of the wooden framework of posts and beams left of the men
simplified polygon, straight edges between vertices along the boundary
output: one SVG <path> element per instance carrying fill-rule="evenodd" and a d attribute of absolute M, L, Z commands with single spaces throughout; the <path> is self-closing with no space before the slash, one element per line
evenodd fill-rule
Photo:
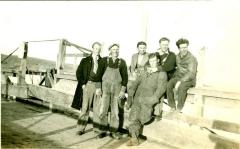
<path fill-rule="evenodd" d="M 77 68 L 76 66 L 78 65 L 76 59 L 79 57 L 86 57 L 90 54 L 91 50 L 71 43 L 66 39 L 60 39 L 56 65 L 52 67 L 52 63 L 49 63 L 51 66 L 50 68 L 45 67 L 45 70 L 37 71 L 28 69 L 28 43 L 29 42 L 23 42 L 19 47 L 19 49 L 21 49 L 22 51 L 20 66 L 12 70 L 2 69 L 1 94 L 4 96 L 13 96 L 26 100 L 31 97 L 38 98 L 50 103 L 50 107 L 53 107 L 54 104 L 63 107 L 66 105 L 69 106 L 72 101 L 73 95 L 64 93 L 63 91 L 58 91 L 54 88 L 54 86 L 58 83 L 60 79 L 74 80 L 76 82 L 75 71 Z M 67 46 L 73 46 L 77 48 L 79 52 L 74 54 L 66 54 Z M 74 67 L 72 67 L 71 65 L 71 68 L 75 68 L 75 70 L 72 70 L 72 74 L 64 73 L 65 67 L 70 67 L 69 64 L 65 64 L 66 57 L 74 57 L 75 59 L 75 63 L 73 64 Z M 41 63 L 38 65 L 41 65 Z M 42 65 L 47 64 L 44 63 Z M 34 69 L 37 68 L 35 67 Z M 25 77 L 26 74 L 29 72 L 43 76 L 38 84 L 26 83 Z M 16 76 L 17 78 L 16 84 L 11 82 L 10 78 L 13 76 Z M 45 85 L 43 86 L 43 84 Z"/>

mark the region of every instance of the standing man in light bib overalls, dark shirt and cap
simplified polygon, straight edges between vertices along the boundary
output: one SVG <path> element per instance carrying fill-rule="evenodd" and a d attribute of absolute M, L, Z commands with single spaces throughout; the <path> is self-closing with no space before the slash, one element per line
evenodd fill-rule
<path fill-rule="evenodd" d="M 100 117 L 102 124 L 108 119 L 110 112 L 109 130 L 110 135 L 115 139 L 120 139 L 119 130 L 119 100 L 125 98 L 125 91 L 128 82 L 128 72 L 125 60 L 118 58 L 119 45 L 112 44 L 109 47 L 110 56 L 103 59 L 105 65 L 102 77 L 102 104 Z"/>

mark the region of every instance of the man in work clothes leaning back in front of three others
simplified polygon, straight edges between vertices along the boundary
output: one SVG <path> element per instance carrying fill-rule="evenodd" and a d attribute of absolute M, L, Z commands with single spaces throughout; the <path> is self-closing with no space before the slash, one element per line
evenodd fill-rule
<path fill-rule="evenodd" d="M 128 98 L 134 98 L 129 114 L 130 140 L 128 146 L 139 145 L 139 135 L 143 125 L 152 119 L 153 107 L 167 88 L 166 72 L 159 72 L 155 53 L 149 54 L 149 68 L 129 87 Z"/>

